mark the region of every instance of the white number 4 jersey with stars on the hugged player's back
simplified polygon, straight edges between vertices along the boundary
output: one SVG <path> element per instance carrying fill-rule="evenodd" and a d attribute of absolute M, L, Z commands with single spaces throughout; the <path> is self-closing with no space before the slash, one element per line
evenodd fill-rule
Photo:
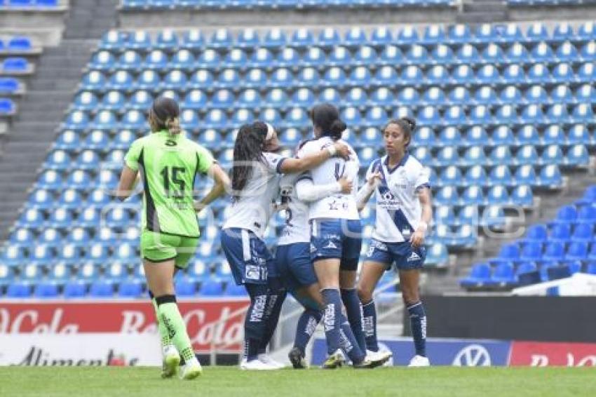
<path fill-rule="evenodd" d="M 346 144 L 340 140 L 339 142 Z M 299 157 L 306 154 L 318 153 L 325 147 L 334 144 L 330 137 L 320 137 L 318 140 L 306 142 L 304 147 L 298 153 Z M 349 145 L 346 144 L 348 147 Z M 358 191 L 358 169 L 360 163 L 358 156 L 354 149 L 350 147 L 351 156 L 347 161 L 341 157 L 334 157 L 328 159 L 325 163 L 313 168 L 308 173 L 303 174 L 302 177 L 310 177 L 313 184 L 322 185 L 337 182 L 341 177 L 346 177 L 353 182 L 353 190 L 351 194 L 337 193 L 314 201 L 309 206 L 309 220 L 313 219 L 347 219 L 359 220 L 358 205 L 356 203 L 355 194 Z"/>

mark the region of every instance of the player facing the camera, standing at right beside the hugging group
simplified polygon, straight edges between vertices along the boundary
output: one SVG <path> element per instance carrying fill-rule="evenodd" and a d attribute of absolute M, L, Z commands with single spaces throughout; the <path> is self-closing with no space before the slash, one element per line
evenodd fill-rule
<path fill-rule="evenodd" d="M 368 349 L 377 351 L 377 314 L 372 292 L 383 272 L 395 262 L 409 313 L 416 355 L 411 367 L 430 365 L 426 357 L 426 314 L 419 297 L 420 269 L 426 258 L 424 236 L 433 217 L 428 168 L 407 153 L 416 122 L 393 119 L 383 128 L 386 155 L 374 160 L 367 182 L 358 191 L 362 209 L 374 193 L 377 221 L 360 274 L 358 295 L 363 304 Z"/>

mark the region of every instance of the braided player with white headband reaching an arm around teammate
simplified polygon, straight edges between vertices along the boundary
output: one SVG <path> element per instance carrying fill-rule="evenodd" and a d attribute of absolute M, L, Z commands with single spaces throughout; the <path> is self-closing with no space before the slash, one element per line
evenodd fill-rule
<path fill-rule="evenodd" d="M 234 281 L 245 285 L 250 296 L 246 314 L 245 359 L 241 369 L 271 370 L 278 365 L 261 355 L 262 346 L 276 327 L 276 318 L 267 309 L 279 285 L 273 257 L 263 241 L 264 231 L 273 213 L 283 173 L 302 173 L 336 154 L 348 156 L 345 144 L 337 143 L 302 159 L 288 159 L 274 152 L 279 149 L 276 131 L 262 122 L 245 125 L 234 143 L 230 214 L 224 224 L 222 248 Z M 273 320 L 273 321 L 272 321 Z"/>

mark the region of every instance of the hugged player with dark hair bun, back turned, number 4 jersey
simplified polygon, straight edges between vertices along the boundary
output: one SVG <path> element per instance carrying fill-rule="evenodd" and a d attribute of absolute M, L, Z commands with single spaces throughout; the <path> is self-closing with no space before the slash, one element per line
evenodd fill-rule
<path fill-rule="evenodd" d="M 306 142 L 302 153 L 316 153 L 341 140 L 346 123 L 339 119 L 337 108 L 330 104 L 316 105 L 310 112 L 315 140 Z M 331 194 L 314 201 L 309 206 L 311 222 L 311 260 L 323 302 L 325 304 L 325 339 L 328 357 L 323 368 L 341 366 L 344 351 L 351 358 L 355 368 L 371 368 L 372 362 L 366 358 L 360 301 L 355 290 L 358 258 L 362 245 L 362 225 L 355 200 L 358 186 L 358 156 L 350 147 L 348 159 L 330 159 L 313 168 L 299 178 L 296 189 L 301 184 L 324 185 L 337 182 L 341 177 L 355 183 L 351 194 Z M 309 182 L 311 181 L 311 182 Z M 341 293 L 340 293 L 341 288 Z M 348 335 L 341 329 L 341 302 L 346 306 L 351 331 Z M 346 337 L 353 334 L 357 343 L 349 345 Z M 343 339 L 343 340 L 342 340 Z"/>

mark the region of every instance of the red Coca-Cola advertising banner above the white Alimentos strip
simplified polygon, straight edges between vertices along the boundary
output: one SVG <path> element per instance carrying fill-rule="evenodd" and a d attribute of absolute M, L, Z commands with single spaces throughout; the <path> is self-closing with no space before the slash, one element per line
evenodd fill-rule
<path fill-rule="evenodd" d="M 178 302 L 195 351 L 241 351 L 247 299 Z M 146 301 L 0 302 L 0 334 L 155 333 Z"/>

